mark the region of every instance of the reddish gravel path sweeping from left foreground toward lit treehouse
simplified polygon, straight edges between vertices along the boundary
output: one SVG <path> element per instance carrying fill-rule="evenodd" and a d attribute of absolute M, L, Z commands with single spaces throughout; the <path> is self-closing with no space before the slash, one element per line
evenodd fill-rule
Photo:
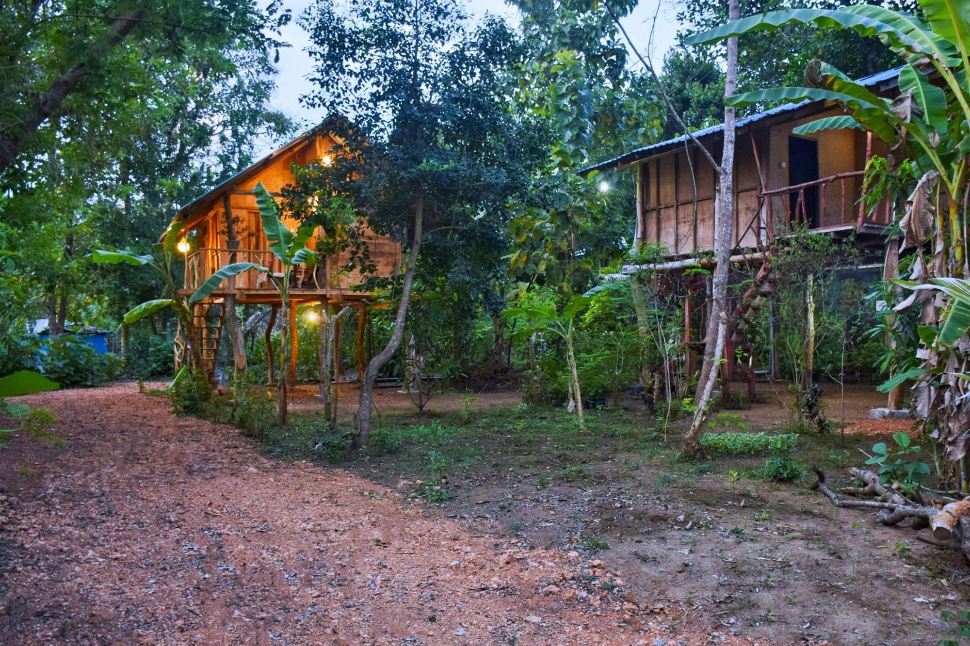
<path fill-rule="evenodd" d="M 134 384 L 19 401 L 52 409 L 65 444 L 15 436 L 0 450 L 4 644 L 767 643 L 734 633 L 732 604 L 768 591 L 736 591 L 732 577 L 746 586 L 768 571 L 807 578 L 811 559 L 844 559 L 848 571 L 860 550 L 885 540 L 826 553 L 785 538 L 791 547 L 762 562 L 764 543 L 721 529 L 730 524 L 722 505 L 743 500 L 723 486 L 711 493 L 718 500 L 696 508 L 632 482 L 595 497 L 570 486 L 510 499 L 534 523 L 551 517 L 549 502 L 560 498 L 599 505 L 604 530 L 643 541 L 631 543 L 642 559 L 619 548 L 592 558 L 559 549 L 551 536 L 507 533 L 493 503 L 477 504 L 481 494 L 470 488 L 440 508 L 407 501 L 360 474 L 377 464 L 354 474 L 267 457 L 233 428 L 173 416 L 165 398 Z M 442 404 L 458 405 L 433 408 Z M 810 506 L 814 516 L 792 510 L 791 532 L 812 534 L 819 516 L 839 527 L 855 517 Z M 695 519 L 693 530 L 676 520 L 680 513 Z M 752 533 L 774 542 L 775 529 Z M 680 574 L 655 561 L 671 550 L 689 564 Z M 833 580 L 818 603 L 839 597 L 831 611 L 857 616 L 857 633 L 867 633 L 880 611 L 854 613 L 853 603 L 894 614 L 885 595 L 904 583 L 917 584 L 907 596 L 945 592 L 929 590 L 912 566 L 887 564 L 885 572 L 863 596 Z M 725 585 L 709 601 L 698 591 L 712 577 Z M 855 598 L 843 600 L 850 592 Z"/>

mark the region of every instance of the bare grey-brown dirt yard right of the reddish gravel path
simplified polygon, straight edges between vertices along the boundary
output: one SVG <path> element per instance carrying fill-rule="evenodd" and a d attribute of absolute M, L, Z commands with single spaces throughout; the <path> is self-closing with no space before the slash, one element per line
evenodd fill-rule
<path fill-rule="evenodd" d="M 507 407 L 515 397 L 483 394 L 474 406 Z M 449 412 L 464 405 L 458 397 L 433 400 L 430 414 L 396 422 L 394 411 L 404 414 L 410 404 L 393 391 L 381 398 L 392 423 L 461 423 Z M 838 396 L 828 399 L 829 417 L 839 419 Z M 350 388 L 342 402 L 348 411 L 355 404 Z M 823 466 L 835 484 L 848 484 L 845 468 L 865 459 L 858 449 L 912 427 L 868 420 L 869 408 L 884 402 L 871 387 L 848 388 L 846 444 L 838 434 L 806 437 L 799 459 Z M 609 429 L 640 414 L 621 412 L 589 415 Z M 787 419 L 777 400 L 730 412 L 750 431 L 770 431 Z M 889 646 L 958 639 L 941 616 L 967 609 L 970 570 L 960 553 L 922 542 L 928 531 L 876 526 L 871 513 L 835 508 L 807 491 L 808 475 L 798 484 L 730 481 L 728 471 L 758 468 L 763 457 L 684 464 L 672 458 L 676 432 L 665 442 L 628 445 L 598 432 L 563 436 L 550 427 L 546 433 L 547 416 L 527 410 L 507 429 L 471 428 L 443 445 L 454 455 L 453 498 L 438 507 L 475 535 L 595 555 L 622 571 L 625 590 L 648 607 L 678 599 L 687 617 L 713 622 L 726 634 Z M 405 447 L 345 468 L 406 485 L 426 476 L 427 450 Z"/>

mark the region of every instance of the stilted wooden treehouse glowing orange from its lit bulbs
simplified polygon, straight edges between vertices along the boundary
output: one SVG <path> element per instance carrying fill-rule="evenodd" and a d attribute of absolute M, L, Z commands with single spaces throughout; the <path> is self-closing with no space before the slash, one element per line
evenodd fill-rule
<path fill-rule="evenodd" d="M 329 120 L 324 121 L 178 210 L 175 221 L 186 222 L 179 243 L 179 251 L 185 256 L 184 286 L 179 290 L 179 296 L 191 296 L 210 275 L 236 262 L 256 263 L 282 276 L 279 261 L 270 250 L 263 232 L 253 189 L 262 182 L 272 195 L 279 197 L 281 189 L 294 182 L 294 166 L 306 166 L 313 161 L 329 164 L 335 146 L 335 136 L 328 130 L 329 123 Z M 282 220 L 291 230 L 296 230 L 299 225 L 296 220 L 288 219 L 286 213 L 282 213 Z M 387 277 L 396 273 L 401 264 L 401 245 L 388 237 L 374 234 L 368 229 L 366 222 L 359 223 L 359 226 L 360 238 L 367 244 L 370 261 L 376 267 L 376 272 L 369 275 Z M 318 230 L 317 235 L 322 235 L 322 231 Z M 316 241 L 316 237 L 311 238 L 307 246 L 316 248 Z M 289 307 L 289 316 L 291 329 L 296 330 L 298 306 L 327 303 L 336 307 L 350 306 L 357 309 L 357 360 L 361 367 L 366 361 L 364 331 L 368 320 L 368 307 L 374 294 L 359 288 L 364 276 L 344 271 L 350 260 L 349 256 L 350 251 L 346 250 L 320 258 L 320 262 L 313 267 L 298 265 L 291 275 L 292 307 Z M 269 377 L 272 382 L 274 355 L 270 334 L 281 305 L 280 296 L 268 277 L 256 272 L 228 278 L 210 298 L 192 307 L 194 329 L 191 333 L 198 339 L 210 379 L 214 378 L 227 303 L 271 307 L 265 337 L 270 363 Z M 339 348 L 339 328 L 337 334 L 336 346 Z M 292 334 L 290 339 L 288 369 L 293 383 L 296 379 L 298 335 Z M 179 344 L 180 339 L 177 339 L 177 363 L 180 356 Z M 339 370 L 339 350 L 335 363 L 338 364 L 336 374 L 340 378 L 342 371 Z"/>

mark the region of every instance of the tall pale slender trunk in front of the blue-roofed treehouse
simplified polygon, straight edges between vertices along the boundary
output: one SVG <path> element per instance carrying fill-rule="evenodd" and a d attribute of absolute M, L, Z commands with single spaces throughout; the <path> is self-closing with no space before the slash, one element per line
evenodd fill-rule
<path fill-rule="evenodd" d="M 738 0 L 729 0 L 728 19 L 737 20 L 740 15 Z M 737 37 L 727 39 L 727 73 L 725 97 L 733 95 L 737 88 Z M 711 316 L 707 321 L 707 339 L 704 345 L 704 363 L 700 369 L 695 396 L 694 420 L 691 430 L 684 437 L 684 453 L 694 456 L 700 450 L 700 436 L 707 415 L 707 404 L 718 378 L 717 367 L 724 352 L 727 332 L 727 275 L 730 269 L 731 239 L 734 230 L 734 109 L 725 107 L 725 145 L 721 156 L 720 193 L 715 214 L 714 252 L 717 267 L 714 268 L 713 302 Z"/>

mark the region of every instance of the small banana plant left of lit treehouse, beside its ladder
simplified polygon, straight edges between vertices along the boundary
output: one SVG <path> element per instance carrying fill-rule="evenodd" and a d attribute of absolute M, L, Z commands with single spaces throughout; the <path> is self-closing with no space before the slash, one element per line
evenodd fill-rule
<path fill-rule="evenodd" d="M 165 291 L 171 294 L 169 298 L 153 299 L 146 301 L 129 309 L 122 319 L 122 325 L 131 325 L 141 318 L 144 318 L 159 309 L 171 307 L 178 314 L 178 322 L 181 329 L 185 331 L 185 352 L 187 363 L 193 371 L 203 369 L 202 353 L 199 350 L 198 339 L 196 339 L 192 328 L 192 312 L 186 304 L 185 299 L 178 296 L 178 284 L 176 283 L 175 263 L 178 253 L 179 234 L 185 227 L 184 221 L 173 222 L 162 234 L 161 242 L 154 245 L 152 253 L 139 255 L 132 251 L 106 251 L 95 249 L 91 251 L 90 259 L 92 262 L 107 265 L 130 265 L 132 267 L 149 267 L 159 275 L 165 283 Z"/>

